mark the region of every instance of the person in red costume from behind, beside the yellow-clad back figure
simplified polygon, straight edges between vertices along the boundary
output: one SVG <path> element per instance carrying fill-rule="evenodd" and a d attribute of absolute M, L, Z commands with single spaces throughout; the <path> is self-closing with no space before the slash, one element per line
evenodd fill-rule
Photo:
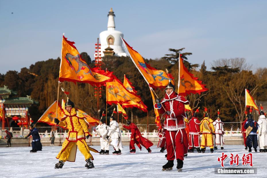
<path fill-rule="evenodd" d="M 194 148 L 197 148 L 198 153 L 201 153 L 200 150 L 200 121 L 197 118 L 197 112 L 194 112 L 193 116 L 189 120 L 189 151 L 194 153 Z"/>

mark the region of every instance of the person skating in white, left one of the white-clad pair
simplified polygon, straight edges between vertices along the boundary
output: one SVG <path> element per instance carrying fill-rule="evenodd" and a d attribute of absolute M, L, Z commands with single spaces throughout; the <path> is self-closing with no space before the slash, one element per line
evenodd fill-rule
<path fill-rule="evenodd" d="M 99 154 L 109 154 L 109 139 L 106 139 L 109 131 L 106 129 L 107 125 L 101 119 L 99 125 L 94 129 L 100 135 L 101 151 Z"/>

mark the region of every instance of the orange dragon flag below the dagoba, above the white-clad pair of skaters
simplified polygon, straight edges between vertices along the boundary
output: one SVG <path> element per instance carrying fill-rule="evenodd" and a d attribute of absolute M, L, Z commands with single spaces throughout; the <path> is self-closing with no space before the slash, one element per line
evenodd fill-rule
<path fill-rule="evenodd" d="M 114 81 L 107 82 L 106 84 L 107 104 L 123 104 L 128 103 L 129 101 L 138 103 L 141 101 L 135 93 L 129 92 L 115 75 L 112 76 Z"/>

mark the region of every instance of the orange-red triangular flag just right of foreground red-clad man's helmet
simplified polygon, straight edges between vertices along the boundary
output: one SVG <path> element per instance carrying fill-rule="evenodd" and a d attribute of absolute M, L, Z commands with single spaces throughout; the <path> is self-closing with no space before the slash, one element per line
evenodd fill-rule
<path fill-rule="evenodd" d="M 203 91 L 207 91 L 202 81 L 194 77 L 193 74 L 188 72 L 187 68 L 183 65 L 181 55 L 179 56 L 179 81 L 178 81 L 178 93 L 179 95 L 200 94 Z"/>

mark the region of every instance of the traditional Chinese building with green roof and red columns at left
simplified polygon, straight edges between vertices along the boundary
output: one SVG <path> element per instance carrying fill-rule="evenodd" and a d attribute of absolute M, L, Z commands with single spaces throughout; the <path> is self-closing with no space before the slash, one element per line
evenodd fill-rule
<path fill-rule="evenodd" d="M 5 127 L 28 127 L 30 115 L 28 108 L 33 104 L 30 96 L 12 97 L 15 92 L 6 86 L 0 88 L 0 119 L 2 129 Z"/>

